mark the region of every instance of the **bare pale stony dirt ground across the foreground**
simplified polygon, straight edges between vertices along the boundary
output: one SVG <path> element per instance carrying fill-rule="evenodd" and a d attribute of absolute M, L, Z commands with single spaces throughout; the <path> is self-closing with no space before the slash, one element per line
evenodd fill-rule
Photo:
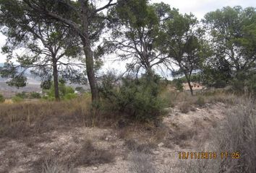
<path fill-rule="evenodd" d="M 150 148 L 149 155 L 156 167 L 161 169 L 175 164 L 179 161 L 180 151 L 190 152 L 197 148 L 203 151 L 208 145 L 210 130 L 223 120 L 225 109 L 226 105 L 222 103 L 194 107 L 187 114 L 180 112 L 178 107 L 168 108 L 168 115 L 160 127 L 166 133 L 159 135 L 155 147 Z M 125 133 L 121 134 L 121 131 Z M 136 128 L 72 127 L 25 138 L 0 138 L 0 172 L 41 172 L 43 160 L 50 157 L 56 158 L 64 166 L 73 167 L 75 172 L 129 172 L 131 151 L 127 146 L 127 136 L 142 143 L 144 138 L 151 140 L 150 130 L 148 134 L 141 133 L 145 131 Z M 108 164 L 74 164 L 77 163 L 75 156 L 82 152 L 82 145 L 88 140 L 95 148 L 114 154 L 114 161 Z"/>

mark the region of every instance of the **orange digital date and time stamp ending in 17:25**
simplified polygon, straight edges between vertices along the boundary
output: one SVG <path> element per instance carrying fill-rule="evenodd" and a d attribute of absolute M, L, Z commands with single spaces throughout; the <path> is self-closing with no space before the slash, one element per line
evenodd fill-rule
<path fill-rule="evenodd" d="M 179 152 L 179 159 L 240 159 L 241 154 L 236 152 L 229 152 L 229 151 L 223 151 L 223 152 Z"/>

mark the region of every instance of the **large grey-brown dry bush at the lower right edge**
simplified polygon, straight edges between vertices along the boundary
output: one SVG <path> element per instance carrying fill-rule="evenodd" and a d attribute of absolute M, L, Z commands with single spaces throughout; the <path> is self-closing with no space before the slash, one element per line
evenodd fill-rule
<path fill-rule="evenodd" d="M 219 151 L 239 152 L 240 159 L 223 160 L 221 169 L 231 172 L 256 172 L 256 110 L 251 99 L 236 99 L 226 112 L 226 120 L 216 131 Z"/>

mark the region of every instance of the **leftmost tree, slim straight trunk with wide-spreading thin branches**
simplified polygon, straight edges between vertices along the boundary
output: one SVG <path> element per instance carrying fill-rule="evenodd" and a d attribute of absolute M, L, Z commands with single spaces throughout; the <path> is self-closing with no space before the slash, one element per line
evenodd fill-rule
<path fill-rule="evenodd" d="M 8 54 L 1 75 L 11 78 L 9 85 L 18 87 L 25 86 L 27 69 L 43 80 L 54 76 L 55 97 L 59 100 L 59 75 L 71 81 L 85 79 L 74 68 L 78 64 L 73 63 L 80 54 L 80 40 L 61 23 L 38 18 L 26 7 L 22 1 L 1 1 L 1 32 L 7 36 L 2 50 Z M 23 53 L 14 55 L 13 51 L 19 48 Z"/>

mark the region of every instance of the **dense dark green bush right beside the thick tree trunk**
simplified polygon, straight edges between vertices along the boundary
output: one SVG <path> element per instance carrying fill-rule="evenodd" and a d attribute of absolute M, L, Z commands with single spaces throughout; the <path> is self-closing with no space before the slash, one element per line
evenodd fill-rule
<path fill-rule="evenodd" d="M 101 97 L 112 110 L 129 115 L 140 121 L 155 120 L 163 114 L 163 99 L 159 97 L 160 77 L 142 76 L 140 79 L 126 77 L 121 85 L 114 84 L 114 76 L 103 79 Z"/>

